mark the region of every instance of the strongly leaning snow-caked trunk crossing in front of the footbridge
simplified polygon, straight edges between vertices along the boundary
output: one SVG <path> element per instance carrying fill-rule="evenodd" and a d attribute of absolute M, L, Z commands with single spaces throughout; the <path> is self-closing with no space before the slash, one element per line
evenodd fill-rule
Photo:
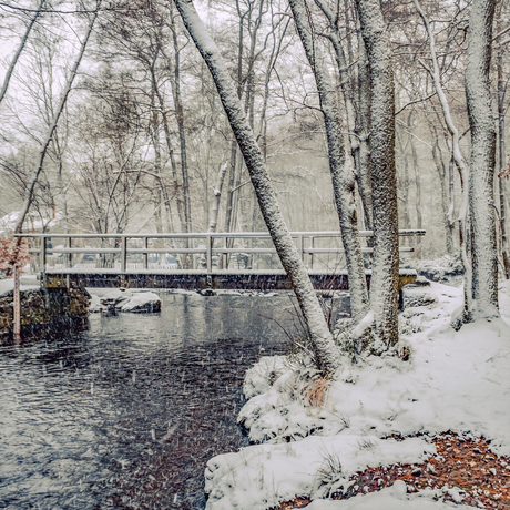
<path fill-rule="evenodd" d="M 248 169 L 264 221 L 308 326 L 317 366 L 326 370 L 335 370 L 340 365 L 339 349 L 335 346 L 305 265 L 285 224 L 263 154 L 246 119 L 232 78 L 216 44 L 196 13 L 193 2 L 191 0 L 174 1 L 220 93 L 223 108 Z"/>

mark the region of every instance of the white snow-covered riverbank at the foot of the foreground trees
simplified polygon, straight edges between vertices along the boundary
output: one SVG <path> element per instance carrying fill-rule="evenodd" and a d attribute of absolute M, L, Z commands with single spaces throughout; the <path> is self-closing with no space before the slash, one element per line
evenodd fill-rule
<path fill-rule="evenodd" d="M 320 498 L 346 490 L 349 477 L 367 467 L 422 462 L 435 452 L 427 434 L 483 435 L 494 452 L 510 455 L 510 282 L 500 286 L 502 319 L 459 332 L 449 323 L 461 288 L 432 283 L 406 289 L 406 303 L 407 361 L 387 356 L 353 365 L 346 358 L 322 388 L 292 358 L 265 357 L 247 373 L 248 401 L 238 420 L 256 445 L 210 460 L 207 510 L 265 510 L 304 494 L 313 496 L 310 510 L 442 510 L 455 504 L 434 501 L 438 491 L 431 489 L 407 493 L 401 481 L 348 500 Z M 314 406 L 314 398 L 323 405 Z M 388 438 L 415 432 L 425 436 Z M 455 488 L 445 490 L 462 499 Z"/>

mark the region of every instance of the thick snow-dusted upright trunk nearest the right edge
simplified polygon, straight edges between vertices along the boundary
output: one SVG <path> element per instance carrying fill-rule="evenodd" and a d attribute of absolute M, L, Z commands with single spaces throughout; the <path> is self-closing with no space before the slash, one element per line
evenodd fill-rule
<path fill-rule="evenodd" d="M 469 17 L 466 98 L 471 126 L 469 205 L 472 228 L 472 313 L 498 317 L 498 248 L 493 178 L 496 126 L 489 69 L 496 0 L 473 0 Z"/>

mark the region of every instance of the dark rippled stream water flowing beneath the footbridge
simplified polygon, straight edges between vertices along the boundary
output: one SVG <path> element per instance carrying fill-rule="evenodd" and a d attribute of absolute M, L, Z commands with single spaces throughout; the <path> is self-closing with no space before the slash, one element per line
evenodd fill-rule
<path fill-rule="evenodd" d="M 157 315 L 92 315 L 0 344 L 0 508 L 201 509 L 246 369 L 286 351 L 289 297 L 162 295 Z"/>

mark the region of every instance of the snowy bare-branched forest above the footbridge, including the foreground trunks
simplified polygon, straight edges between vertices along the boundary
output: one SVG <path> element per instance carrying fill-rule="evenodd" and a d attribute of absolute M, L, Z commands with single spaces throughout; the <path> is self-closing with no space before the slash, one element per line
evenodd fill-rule
<path fill-rule="evenodd" d="M 498 273 L 510 268 L 508 6 L 196 8 L 1 4 L 4 232 L 267 227 L 312 337 L 329 343 L 310 326 L 319 307 L 288 231 L 339 225 L 353 317 L 388 346 L 397 230 L 426 228 L 417 257 L 465 267 L 457 327 L 498 316 Z M 374 231 L 370 297 L 359 230 Z"/>

